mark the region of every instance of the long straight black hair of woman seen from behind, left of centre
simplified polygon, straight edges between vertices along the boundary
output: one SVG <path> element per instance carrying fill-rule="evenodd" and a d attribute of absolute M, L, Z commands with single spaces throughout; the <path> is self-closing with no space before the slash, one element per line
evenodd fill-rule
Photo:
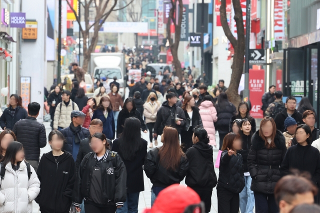
<path fill-rule="evenodd" d="M 135 117 L 125 119 L 123 132 L 120 134 L 119 155 L 127 161 L 132 161 L 142 148 L 140 120 Z"/>

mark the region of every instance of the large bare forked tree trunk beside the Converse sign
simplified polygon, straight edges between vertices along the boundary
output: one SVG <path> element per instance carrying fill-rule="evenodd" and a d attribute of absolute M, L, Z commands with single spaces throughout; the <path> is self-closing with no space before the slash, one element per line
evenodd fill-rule
<path fill-rule="evenodd" d="M 243 71 L 244 60 L 244 25 L 242 18 L 242 8 L 239 0 L 232 0 L 234 10 L 234 20 L 236 25 L 237 39 L 232 35 L 226 19 L 225 0 L 221 0 L 220 6 L 220 20 L 225 36 L 229 39 L 234 48 L 233 62 L 231 65 L 232 74 L 230 79 L 230 86 L 226 90 L 229 101 L 238 105 L 240 99 L 238 95 L 238 87 Z"/>

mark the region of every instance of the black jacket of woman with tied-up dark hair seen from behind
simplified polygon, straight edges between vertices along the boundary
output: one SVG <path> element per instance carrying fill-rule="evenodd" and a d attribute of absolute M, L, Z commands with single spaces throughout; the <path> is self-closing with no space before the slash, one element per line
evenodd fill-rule
<path fill-rule="evenodd" d="M 185 184 L 195 190 L 212 191 L 217 184 L 212 146 L 200 141 L 189 148 L 185 155 L 189 161 Z"/>

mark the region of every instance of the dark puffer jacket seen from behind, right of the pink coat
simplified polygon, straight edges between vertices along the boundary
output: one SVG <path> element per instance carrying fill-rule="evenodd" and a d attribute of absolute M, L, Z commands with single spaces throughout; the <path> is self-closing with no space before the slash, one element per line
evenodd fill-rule
<path fill-rule="evenodd" d="M 218 117 L 218 120 L 214 123 L 215 129 L 219 133 L 228 133 L 230 119 L 236 114 L 235 106 L 231 102 L 225 107 L 219 106 L 219 103 L 217 103 L 215 104 L 215 109 Z"/>

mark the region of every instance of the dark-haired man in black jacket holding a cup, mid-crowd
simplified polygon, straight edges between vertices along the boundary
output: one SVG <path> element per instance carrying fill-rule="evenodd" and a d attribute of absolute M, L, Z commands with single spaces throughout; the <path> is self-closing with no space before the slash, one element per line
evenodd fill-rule
<path fill-rule="evenodd" d="M 176 106 L 176 94 L 169 92 L 166 95 L 167 101 L 162 103 L 162 106 L 156 114 L 156 121 L 153 127 L 153 137 L 157 137 L 162 134 L 165 126 L 171 126 L 175 128 L 180 134 L 182 127 L 185 124 L 185 115 L 183 110 Z"/>

